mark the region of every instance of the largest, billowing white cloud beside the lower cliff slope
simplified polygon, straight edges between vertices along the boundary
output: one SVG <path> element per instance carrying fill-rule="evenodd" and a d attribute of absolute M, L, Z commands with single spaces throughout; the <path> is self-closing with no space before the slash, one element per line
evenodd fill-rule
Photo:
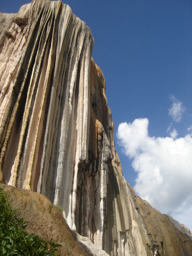
<path fill-rule="evenodd" d="M 136 193 L 192 229 L 192 223 L 186 222 L 188 214 L 192 216 L 192 135 L 176 139 L 176 130 L 170 135 L 150 137 L 147 118 L 122 123 L 117 133 L 120 146 L 138 173 Z"/>

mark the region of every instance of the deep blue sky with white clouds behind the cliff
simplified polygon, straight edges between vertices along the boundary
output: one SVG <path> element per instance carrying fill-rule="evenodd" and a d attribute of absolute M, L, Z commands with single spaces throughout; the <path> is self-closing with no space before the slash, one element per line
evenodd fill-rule
<path fill-rule="evenodd" d="M 0 0 L 0 11 L 28 2 Z M 124 177 L 192 230 L 192 1 L 64 3 L 92 31 Z"/>

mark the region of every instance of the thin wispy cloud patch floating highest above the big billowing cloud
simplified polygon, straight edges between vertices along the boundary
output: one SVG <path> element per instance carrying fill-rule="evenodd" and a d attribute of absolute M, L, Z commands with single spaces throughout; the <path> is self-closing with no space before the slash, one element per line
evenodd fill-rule
<path fill-rule="evenodd" d="M 169 109 L 169 116 L 171 116 L 175 122 L 180 122 L 186 108 L 183 106 L 182 102 L 175 98 L 175 96 L 170 95 L 169 98 L 172 100 L 172 107 Z"/>

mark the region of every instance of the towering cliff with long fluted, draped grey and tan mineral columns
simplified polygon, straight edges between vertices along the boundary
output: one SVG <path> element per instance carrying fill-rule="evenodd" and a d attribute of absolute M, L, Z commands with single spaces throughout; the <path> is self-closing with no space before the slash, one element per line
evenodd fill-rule
<path fill-rule="evenodd" d="M 191 255 L 188 230 L 122 175 L 86 24 L 49 0 L 0 14 L 0 24 L 0 181 L 47 196 L 110 255 Z"/>

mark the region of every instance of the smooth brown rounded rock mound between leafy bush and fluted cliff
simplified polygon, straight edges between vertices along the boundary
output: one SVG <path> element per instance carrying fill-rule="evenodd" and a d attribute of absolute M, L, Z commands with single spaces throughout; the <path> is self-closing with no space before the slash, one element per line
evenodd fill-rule
<path fill-rule="evenodd" d="M 39 193 L 0 184 L 3 193 L 17 210 L 17 218 L 28 222 L 28 234 L 36 234 L 44 240 L 60 244 L 57 253 L 61 256 L 107 256 L 106 252 L 96 247 L 86 237 L 70 230 L 66 224 L 61 209 L 57 209 L 46 196 Z M 0 241 L 1 244 L 1 241 Z"/>

